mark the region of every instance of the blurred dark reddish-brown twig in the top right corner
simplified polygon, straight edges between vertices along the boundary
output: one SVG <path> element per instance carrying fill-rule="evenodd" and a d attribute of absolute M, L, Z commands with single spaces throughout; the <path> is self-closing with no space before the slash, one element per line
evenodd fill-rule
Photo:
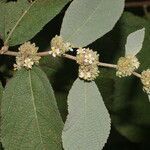
<path fill-rule="evenodd" d="M 150 6 L 150 1 L 143 1 L 143 2 L 126 2 L 126 7 L 143 7 L 143 6 Z"/>

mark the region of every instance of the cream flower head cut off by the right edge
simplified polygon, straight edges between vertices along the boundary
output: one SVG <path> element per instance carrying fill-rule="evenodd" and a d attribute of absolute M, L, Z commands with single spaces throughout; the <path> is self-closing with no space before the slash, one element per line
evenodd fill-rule
<path fill-rule="evenodd" d="M 150 69 L 147 69 L 141 74 L 141 81 L 143 83 L 143 90 L 150 94 Z"/>

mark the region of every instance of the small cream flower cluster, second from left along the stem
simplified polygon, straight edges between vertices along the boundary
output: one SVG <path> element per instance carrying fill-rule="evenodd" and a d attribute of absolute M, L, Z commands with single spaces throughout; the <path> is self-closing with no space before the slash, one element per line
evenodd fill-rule
<path fill-rule="evenodd" d="M 70 50 L 72 50 L 71 44 L 68 42 L 65 43 L 61 36 L 56 35 L 51 40 L 51 50 L 49 51 L 49 54 L 53 57 L 61 56 Z"/>

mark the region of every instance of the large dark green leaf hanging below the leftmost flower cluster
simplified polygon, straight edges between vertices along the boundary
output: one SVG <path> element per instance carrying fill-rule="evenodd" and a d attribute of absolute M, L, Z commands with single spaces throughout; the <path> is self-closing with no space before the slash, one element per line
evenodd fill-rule
<path fill-rule="evenodd" d="M 39 69 L 22 69 L 9 81 L 2 99 L 2 144 L 6 150 L 62 150 L 54 92 Z"/>

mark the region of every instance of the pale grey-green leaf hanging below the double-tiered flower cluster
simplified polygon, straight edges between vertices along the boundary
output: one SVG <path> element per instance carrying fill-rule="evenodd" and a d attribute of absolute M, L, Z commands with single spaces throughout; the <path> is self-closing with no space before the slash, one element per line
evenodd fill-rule
<path fill-rule="evenodd" d="M 77 79 L 68 96 L 62 133 L 65 150 L 101 150 L 110 133 L 110 116 L 94 82 Z"/>

